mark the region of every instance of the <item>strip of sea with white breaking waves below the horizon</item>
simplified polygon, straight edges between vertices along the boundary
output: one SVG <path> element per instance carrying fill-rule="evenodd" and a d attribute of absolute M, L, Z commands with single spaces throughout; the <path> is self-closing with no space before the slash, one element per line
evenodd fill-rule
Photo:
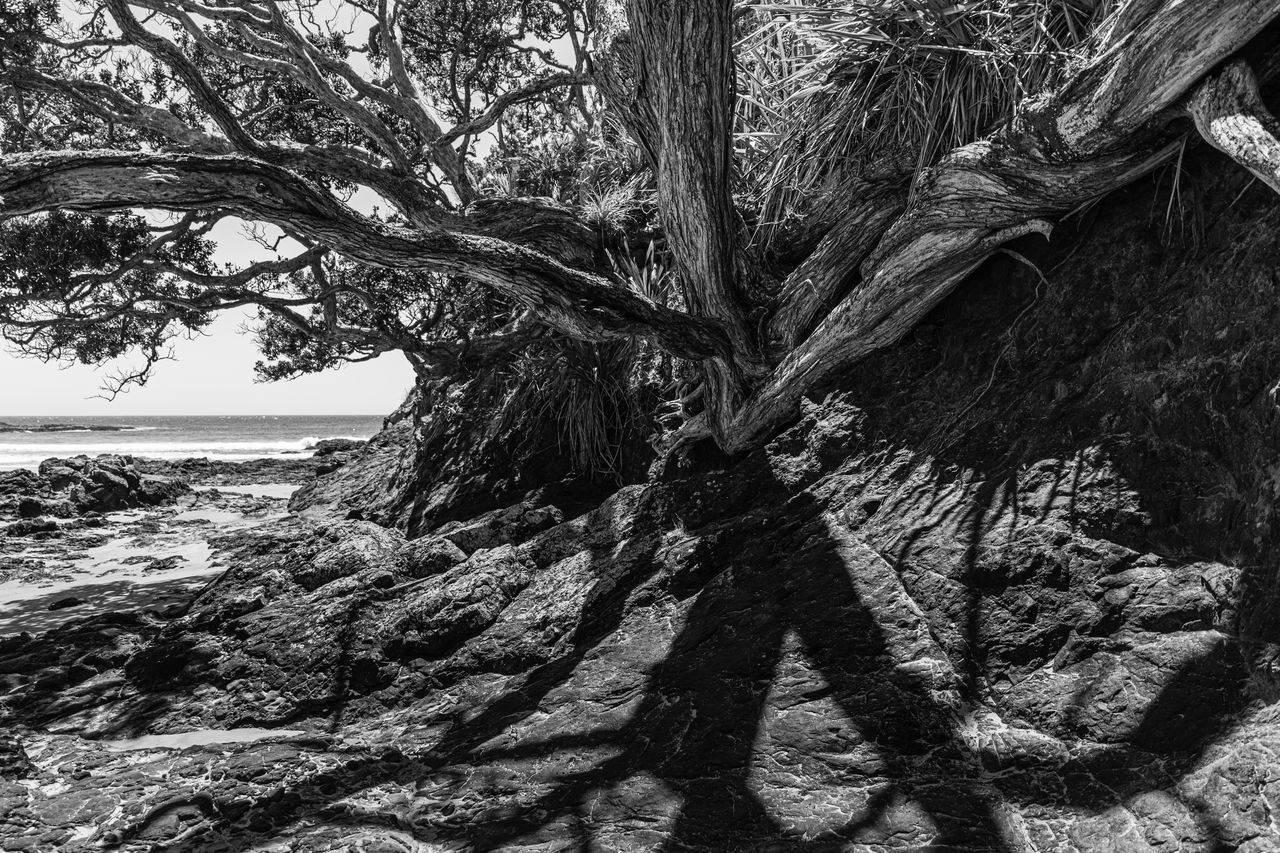
<path fill-rule="evenodd" d="M 383 415 L 168 415 L 168 416 L 5 416 L 0 424 L 35 426 L 131 426 L 120 432 L 0 432 L 0 470 L 35 469 L 50 456 L 128 453 L 151 459 L 188 456 L 221 460 L 302 453 L 323 438 L 369 438 Z"/>

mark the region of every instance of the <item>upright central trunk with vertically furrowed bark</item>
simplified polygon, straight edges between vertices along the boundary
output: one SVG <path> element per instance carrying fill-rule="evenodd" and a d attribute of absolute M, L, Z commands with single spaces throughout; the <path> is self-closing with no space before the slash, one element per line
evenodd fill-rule
<path fill-rule="evenodd" d="M 602 55 L 598 79 L 653 165 L 685 305 L 695 316 L 721 321 L 733 343 L 733 359 L 703 365 L 708 423 L 721 438 L 758 361 L 742 292 L 748 264 L 730 192 L 732 3 L 628 0 L 626 19 L 626 33 Z"/>

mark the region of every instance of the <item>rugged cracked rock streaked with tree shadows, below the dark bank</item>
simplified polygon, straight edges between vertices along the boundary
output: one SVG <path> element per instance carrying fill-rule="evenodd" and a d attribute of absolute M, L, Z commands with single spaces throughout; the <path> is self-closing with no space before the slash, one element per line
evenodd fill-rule
<path fill-rule="evenodd" d="M 415 539 L 148 510 L 243 526 L 166 607 L 0 640 L 0 847 L 1270 849 L 1251 579 L 1139 546 L 1123 455 L 975 479 L 847 453 L 872 426 L 832 398 L 730 470 Z"/>

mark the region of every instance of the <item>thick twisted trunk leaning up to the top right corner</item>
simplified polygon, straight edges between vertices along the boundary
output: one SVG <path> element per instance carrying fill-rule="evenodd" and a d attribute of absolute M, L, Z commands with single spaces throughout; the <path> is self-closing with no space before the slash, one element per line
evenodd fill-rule
<path fill-rule="evenodd" d="M 1001 243 L 1047 233 L 1046 218 L 1165 161 L 1175 146 L 1156 134 L 1171 118 L 1167 108 L 1277 14 L 1272 3 L 1231 0 L 1124 6 L 1098 58 L 1068 86 L 922 177 L 910 206 L 863 261 L 861 284 L 739 411 L 726 450 L 764 441 L 806 392 L 901 338 Z"/>

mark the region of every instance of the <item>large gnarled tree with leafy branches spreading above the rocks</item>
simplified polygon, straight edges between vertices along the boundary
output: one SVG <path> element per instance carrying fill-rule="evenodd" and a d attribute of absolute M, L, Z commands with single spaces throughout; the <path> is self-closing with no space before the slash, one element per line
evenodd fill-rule
<path fill-rule="evenodd" d="M 1280 191 L 1242 58 L 1277 15 L 95 0 L 61 19 L 22 0 L 0 13 L 0 324 L 46 357 L 141 345 L 150 366 L 166 336 L 255 305 L 276 375 L 388 351 L 439 375 L 548 334 L 640 339 L 700 377 L 672 443 L 736 452 L 1002 245 L 1170 161 L 1181 117 Z M 550 138 L 568 142 L 553 156 Z M 602 178 L 626 146 L 635 167 Z M 648 190 L 660 228 L 602 213 Z M 223 218 L 300 248 L 215 269 Z M 653 241 L 669 295 L 626 273 Z"/>

